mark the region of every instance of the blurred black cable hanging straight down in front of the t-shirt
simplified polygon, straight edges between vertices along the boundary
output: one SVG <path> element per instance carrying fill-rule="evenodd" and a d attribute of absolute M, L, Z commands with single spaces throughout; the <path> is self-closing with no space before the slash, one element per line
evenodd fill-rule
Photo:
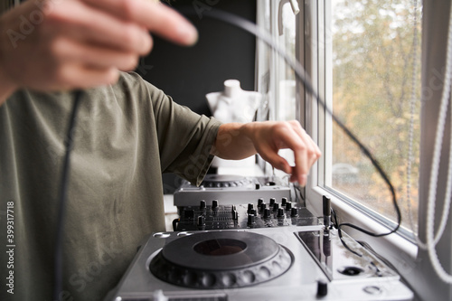
<path fill-rule="evenodd" d="M 66 199 L 68 194 L 69 175 L 71 170 L 71 150 L 73 146 L 73 135 L 75 122 L 77 119 L 77 112 L 80 105 L 82 91 L 76 90 L 74 92 L 74 102 L 72 105 L 71 118 L 69 120 L 68 134 L 64 141 L 66 154 L 64 155 L 64 161 L 61 171 L 61 186 L 58 196 L 58 202 L 60 204 L 57 221 L 57 233 L 55 240 L 55 260 L 54 260 L 54 283 L 53 283 L 53 298 L 52 300 L 60 300 L 60 294 L 62 292 L 62 240 L 64 233 L 64 220 L 66 213 Z"/>

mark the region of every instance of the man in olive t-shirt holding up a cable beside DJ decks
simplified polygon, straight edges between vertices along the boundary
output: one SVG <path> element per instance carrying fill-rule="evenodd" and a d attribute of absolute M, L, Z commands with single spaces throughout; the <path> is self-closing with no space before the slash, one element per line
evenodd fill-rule
<path fill-rule="evenodd" d="M 73 89 L 84 92 L 61 300 L 101 299 L 140 240 L 165 229 L 164 172 L 201 183 L 212 155 L 259 153 L 306 183 L 320 152 L 296 121 L 221 125 L 123 72 L 151 51 L 149 32 L 183 45 L 197 40 L 182 16 L 144 0 L 30 0 L 0 17 L 0 212 L 8 214 L 0 215 L 0 299 L 52 299 L 56 196 Z M 278 156 L 287 147 L 293 167 Z"/>

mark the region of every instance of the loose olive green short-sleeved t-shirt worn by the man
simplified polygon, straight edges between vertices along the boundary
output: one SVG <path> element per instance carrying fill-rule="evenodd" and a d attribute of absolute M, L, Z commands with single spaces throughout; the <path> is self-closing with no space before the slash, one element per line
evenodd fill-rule
<path fill-rule="evenodd" d="M 57 198 L 73 98 L 20 90 L 0 107 L 1 300 L 52 300 Z M 146 234 L 165 230 L 162 173 L 200 183 L 219 126 L 135 73 L 82 94 L 61 300 L 101 300 L 118 283 Z"/>

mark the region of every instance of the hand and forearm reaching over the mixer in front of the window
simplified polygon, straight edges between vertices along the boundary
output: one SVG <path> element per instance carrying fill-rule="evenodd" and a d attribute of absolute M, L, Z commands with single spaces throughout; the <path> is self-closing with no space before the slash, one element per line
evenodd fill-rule
<path fill-rule="evenodd" d="M 278 150 L 294 152 L 295 166 L 278 155 Z M 309 169 L 320 157 L 318 146 L 297 121 L 228 123 L 221 125 L 212 154 L 223 159 L 242 159 L 259 153 L 270 165 L 291 174 L 290 181 L 306 185 Z"/>

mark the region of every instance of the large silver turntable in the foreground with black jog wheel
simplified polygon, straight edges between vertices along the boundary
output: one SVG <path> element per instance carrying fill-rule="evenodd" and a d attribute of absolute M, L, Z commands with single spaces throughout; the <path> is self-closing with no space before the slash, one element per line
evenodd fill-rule
<path fill-rule="evenodd" d="M 323 225 L 159 232 L 106 300 L 411 300 L 399 275 Z"/>

